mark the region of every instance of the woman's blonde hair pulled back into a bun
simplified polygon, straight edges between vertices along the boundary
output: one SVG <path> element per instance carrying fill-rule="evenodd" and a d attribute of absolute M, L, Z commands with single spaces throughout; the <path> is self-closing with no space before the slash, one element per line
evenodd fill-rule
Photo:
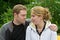
<path fill-rule="evenodd" d="M 31 13 L 36 14 L 38 16 L 40 14 L 43 14 L 44 20 L 50 20 L 51 19 L 51 15 L 50 15 L 50 12 L 49 12 L 48 8 L 44 8 L 44 7 L 41 7 L 41 6 L 35 6 L 31 9 Z"/>

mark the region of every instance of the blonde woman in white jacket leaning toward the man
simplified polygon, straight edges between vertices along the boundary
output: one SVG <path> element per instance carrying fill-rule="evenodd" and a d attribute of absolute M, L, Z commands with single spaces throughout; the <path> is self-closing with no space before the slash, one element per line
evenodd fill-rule
<path fill-rule="evenodd" d="M 47 8 L 31 9 L 31 23 L 26 30 L 26 40 L 57 40 L 57 32 L 49 28 L 51 15 Z"/>

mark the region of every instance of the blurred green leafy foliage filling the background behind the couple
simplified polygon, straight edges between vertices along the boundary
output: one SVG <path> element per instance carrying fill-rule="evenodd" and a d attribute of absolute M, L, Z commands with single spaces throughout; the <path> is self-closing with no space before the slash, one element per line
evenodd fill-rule
<path fill-rule="evenodd" d="M 13 19 L 12 8 L 15 4 L 24 4 L 27 7 L 27 18 L 30 18 L 31 8 L 43 6 L 49 8 L 52 15 L 52 23 L 58 26 L 60 31 L 60 0 L 1 0 L 0 1 L 0 26 Z M 60 32 L 59 32 L 60 33 Z"/>

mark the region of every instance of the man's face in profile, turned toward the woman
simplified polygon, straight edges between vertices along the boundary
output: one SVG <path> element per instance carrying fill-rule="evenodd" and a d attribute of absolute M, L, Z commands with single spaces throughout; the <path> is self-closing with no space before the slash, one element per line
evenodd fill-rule
<path fill-rule="evenodd" d="M 26 10 L 20 10 L 20 12 L 16 16 L 17 22 L 18 23 L 25 23 L 26 14 L 27 14 Z"/>

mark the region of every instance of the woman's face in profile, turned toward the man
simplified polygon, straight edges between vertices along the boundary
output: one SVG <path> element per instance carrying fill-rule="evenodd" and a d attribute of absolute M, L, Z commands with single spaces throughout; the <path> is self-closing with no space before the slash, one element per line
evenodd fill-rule
<path fill-rule="evenodd" d="M 41 20 L 43 20 L 43 15 L 36 15 L 36 14 L 31 14 L 31 21 L 35 24 L 38 25 L 40 24 Z"/>

